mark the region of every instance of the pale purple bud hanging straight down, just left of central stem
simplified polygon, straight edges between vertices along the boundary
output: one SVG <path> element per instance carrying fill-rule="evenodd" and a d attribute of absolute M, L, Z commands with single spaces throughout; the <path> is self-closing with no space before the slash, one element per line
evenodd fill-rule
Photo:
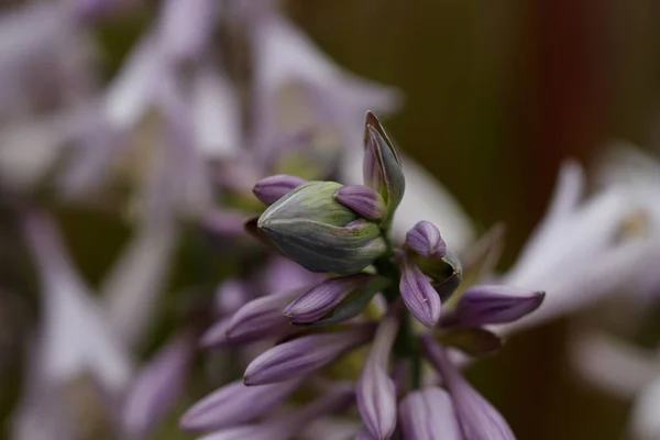
<path fill-rule="evenodd" d="M 378 326 L 374 344 L 356 386 L 358 409 L 375 439 L 389 439 L 396 428 L 396 387 L 387 374 L 398 321 L 388 315 Z"/>

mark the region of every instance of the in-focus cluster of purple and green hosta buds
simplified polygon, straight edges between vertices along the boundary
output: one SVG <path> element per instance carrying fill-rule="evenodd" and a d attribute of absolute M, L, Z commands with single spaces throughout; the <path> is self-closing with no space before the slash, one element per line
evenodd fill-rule
<path fill-rule="evenodd" d="M 205 348 L 276 343 L 249 363 L 243 383 L 190 408 L 182 419 L 185 430 L 213 432 L 208 439 L 285 439 L 355 402 L 364 424 L 361 439 L 514 438 L 503 417 L 462 377 L 454 356 L 497 351 L 501 339 L 484 326 L 534 311 L 543 294 L 476 284 L 492 264 L 492 246 L 462 267 L 427 221 L 395 245 L 389 229 L 404 197 L 402 163 L 372 113 L 365 131 L 364 186 L 283 175 L 255 186 L 256 197 L 268 205 L 256 233 L 328 277 L 249 301 L 207 331 Z M 348 354 L 369 343 L 355 371 Z M 436 367 L 436 377 L 421 377 L 424 360 Z M 319 376 L 333 374 L 356 380 L 355 386 L 346 391 L 342 382 L 305 404 L 309 393 L 297 391 L 319 388 L 324 383 Z M 439 381 L 442 386 L 421 385 Z M 267 416 L 287 400 L 295 405 L 289 413 Z"/>

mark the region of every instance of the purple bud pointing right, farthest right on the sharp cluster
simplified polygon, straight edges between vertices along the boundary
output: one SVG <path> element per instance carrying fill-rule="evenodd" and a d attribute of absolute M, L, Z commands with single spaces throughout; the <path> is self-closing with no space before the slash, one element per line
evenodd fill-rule
<path fill-rule="evenodd" d="M 544 296 L 542 292 L 482 284 L 465 290 L 457 309 L 442 321 L 461 327 L 513 322 L 536 310 Z"/>

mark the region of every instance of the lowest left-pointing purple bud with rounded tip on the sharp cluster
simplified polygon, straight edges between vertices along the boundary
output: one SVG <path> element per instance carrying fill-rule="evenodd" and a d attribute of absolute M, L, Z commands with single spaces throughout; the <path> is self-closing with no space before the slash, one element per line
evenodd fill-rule
<path fill-rule="evenodd" d="M 184 414 L 179 426 L 186 431 L 209 431 L 248 422 L 278 406 L 300 382 L 293 380 L 261 386 L 232 382 L 195 404 Z"/>

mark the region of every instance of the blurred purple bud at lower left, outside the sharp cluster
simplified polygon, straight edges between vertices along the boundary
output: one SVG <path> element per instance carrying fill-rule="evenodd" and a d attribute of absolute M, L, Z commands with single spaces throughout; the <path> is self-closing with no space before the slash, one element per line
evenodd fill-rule
<path fill-rule="evenodd" d="M 122 408 L 122 426 L 130 437 L 146 435 L 180 397 L 195 353 L 193 334 L 165 345 L 140 372 Z"/>

